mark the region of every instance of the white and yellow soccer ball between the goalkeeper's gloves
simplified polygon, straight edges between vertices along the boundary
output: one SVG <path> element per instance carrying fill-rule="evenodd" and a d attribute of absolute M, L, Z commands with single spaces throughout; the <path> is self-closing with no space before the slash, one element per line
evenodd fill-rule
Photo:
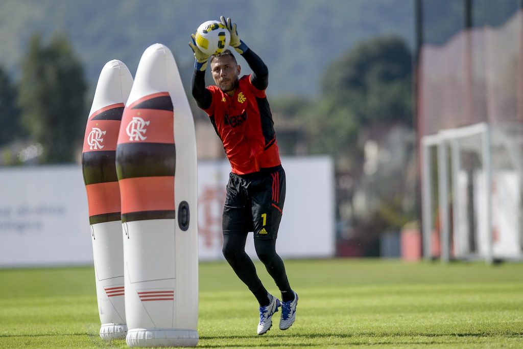
<path fill-rule="evenodd" d="M 231 33 L 221 22 L 208 20 L 196 30 L 196 46 L 207 54 L 219 54 L 229 46 Z"/>

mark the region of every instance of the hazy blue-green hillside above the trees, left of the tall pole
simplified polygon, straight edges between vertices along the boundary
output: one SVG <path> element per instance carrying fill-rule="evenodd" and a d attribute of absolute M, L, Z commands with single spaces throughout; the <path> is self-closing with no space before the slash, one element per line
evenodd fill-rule
<path fill-rule="evenodd" d="M 173 51 L 188 82 L 190 33 L 223 15 L 236 22 L 240 37 L 270 67 L 270 97 L 314 97 L 325 67 L 356 43 L 388 33 L 411 47 L 413 7 L 403 0 L 2 0 L 0 64 L 18 80 L 20 57 L 33 33 L 47 40 L 63 32 L 91 86 L 111 59 L 135 72 L 141 54 L 155 42 Z"/>

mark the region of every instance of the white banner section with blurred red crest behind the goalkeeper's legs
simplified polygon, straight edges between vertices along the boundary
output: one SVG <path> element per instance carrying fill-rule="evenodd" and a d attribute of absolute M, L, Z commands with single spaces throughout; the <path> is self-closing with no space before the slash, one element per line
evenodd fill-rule
<path fill-rule="evenodd" d="M 285 257 L 332 257 L 334 233 L 334 165 L 329 157 L 282 159 L 287 192 L 276 251 Z M 200 260 L 222 256 L 222 209 L 229 162 L 204 162 L 198 166 L 198 233 Z M 253 234 L 245 251 L 256 258 Z"/>

